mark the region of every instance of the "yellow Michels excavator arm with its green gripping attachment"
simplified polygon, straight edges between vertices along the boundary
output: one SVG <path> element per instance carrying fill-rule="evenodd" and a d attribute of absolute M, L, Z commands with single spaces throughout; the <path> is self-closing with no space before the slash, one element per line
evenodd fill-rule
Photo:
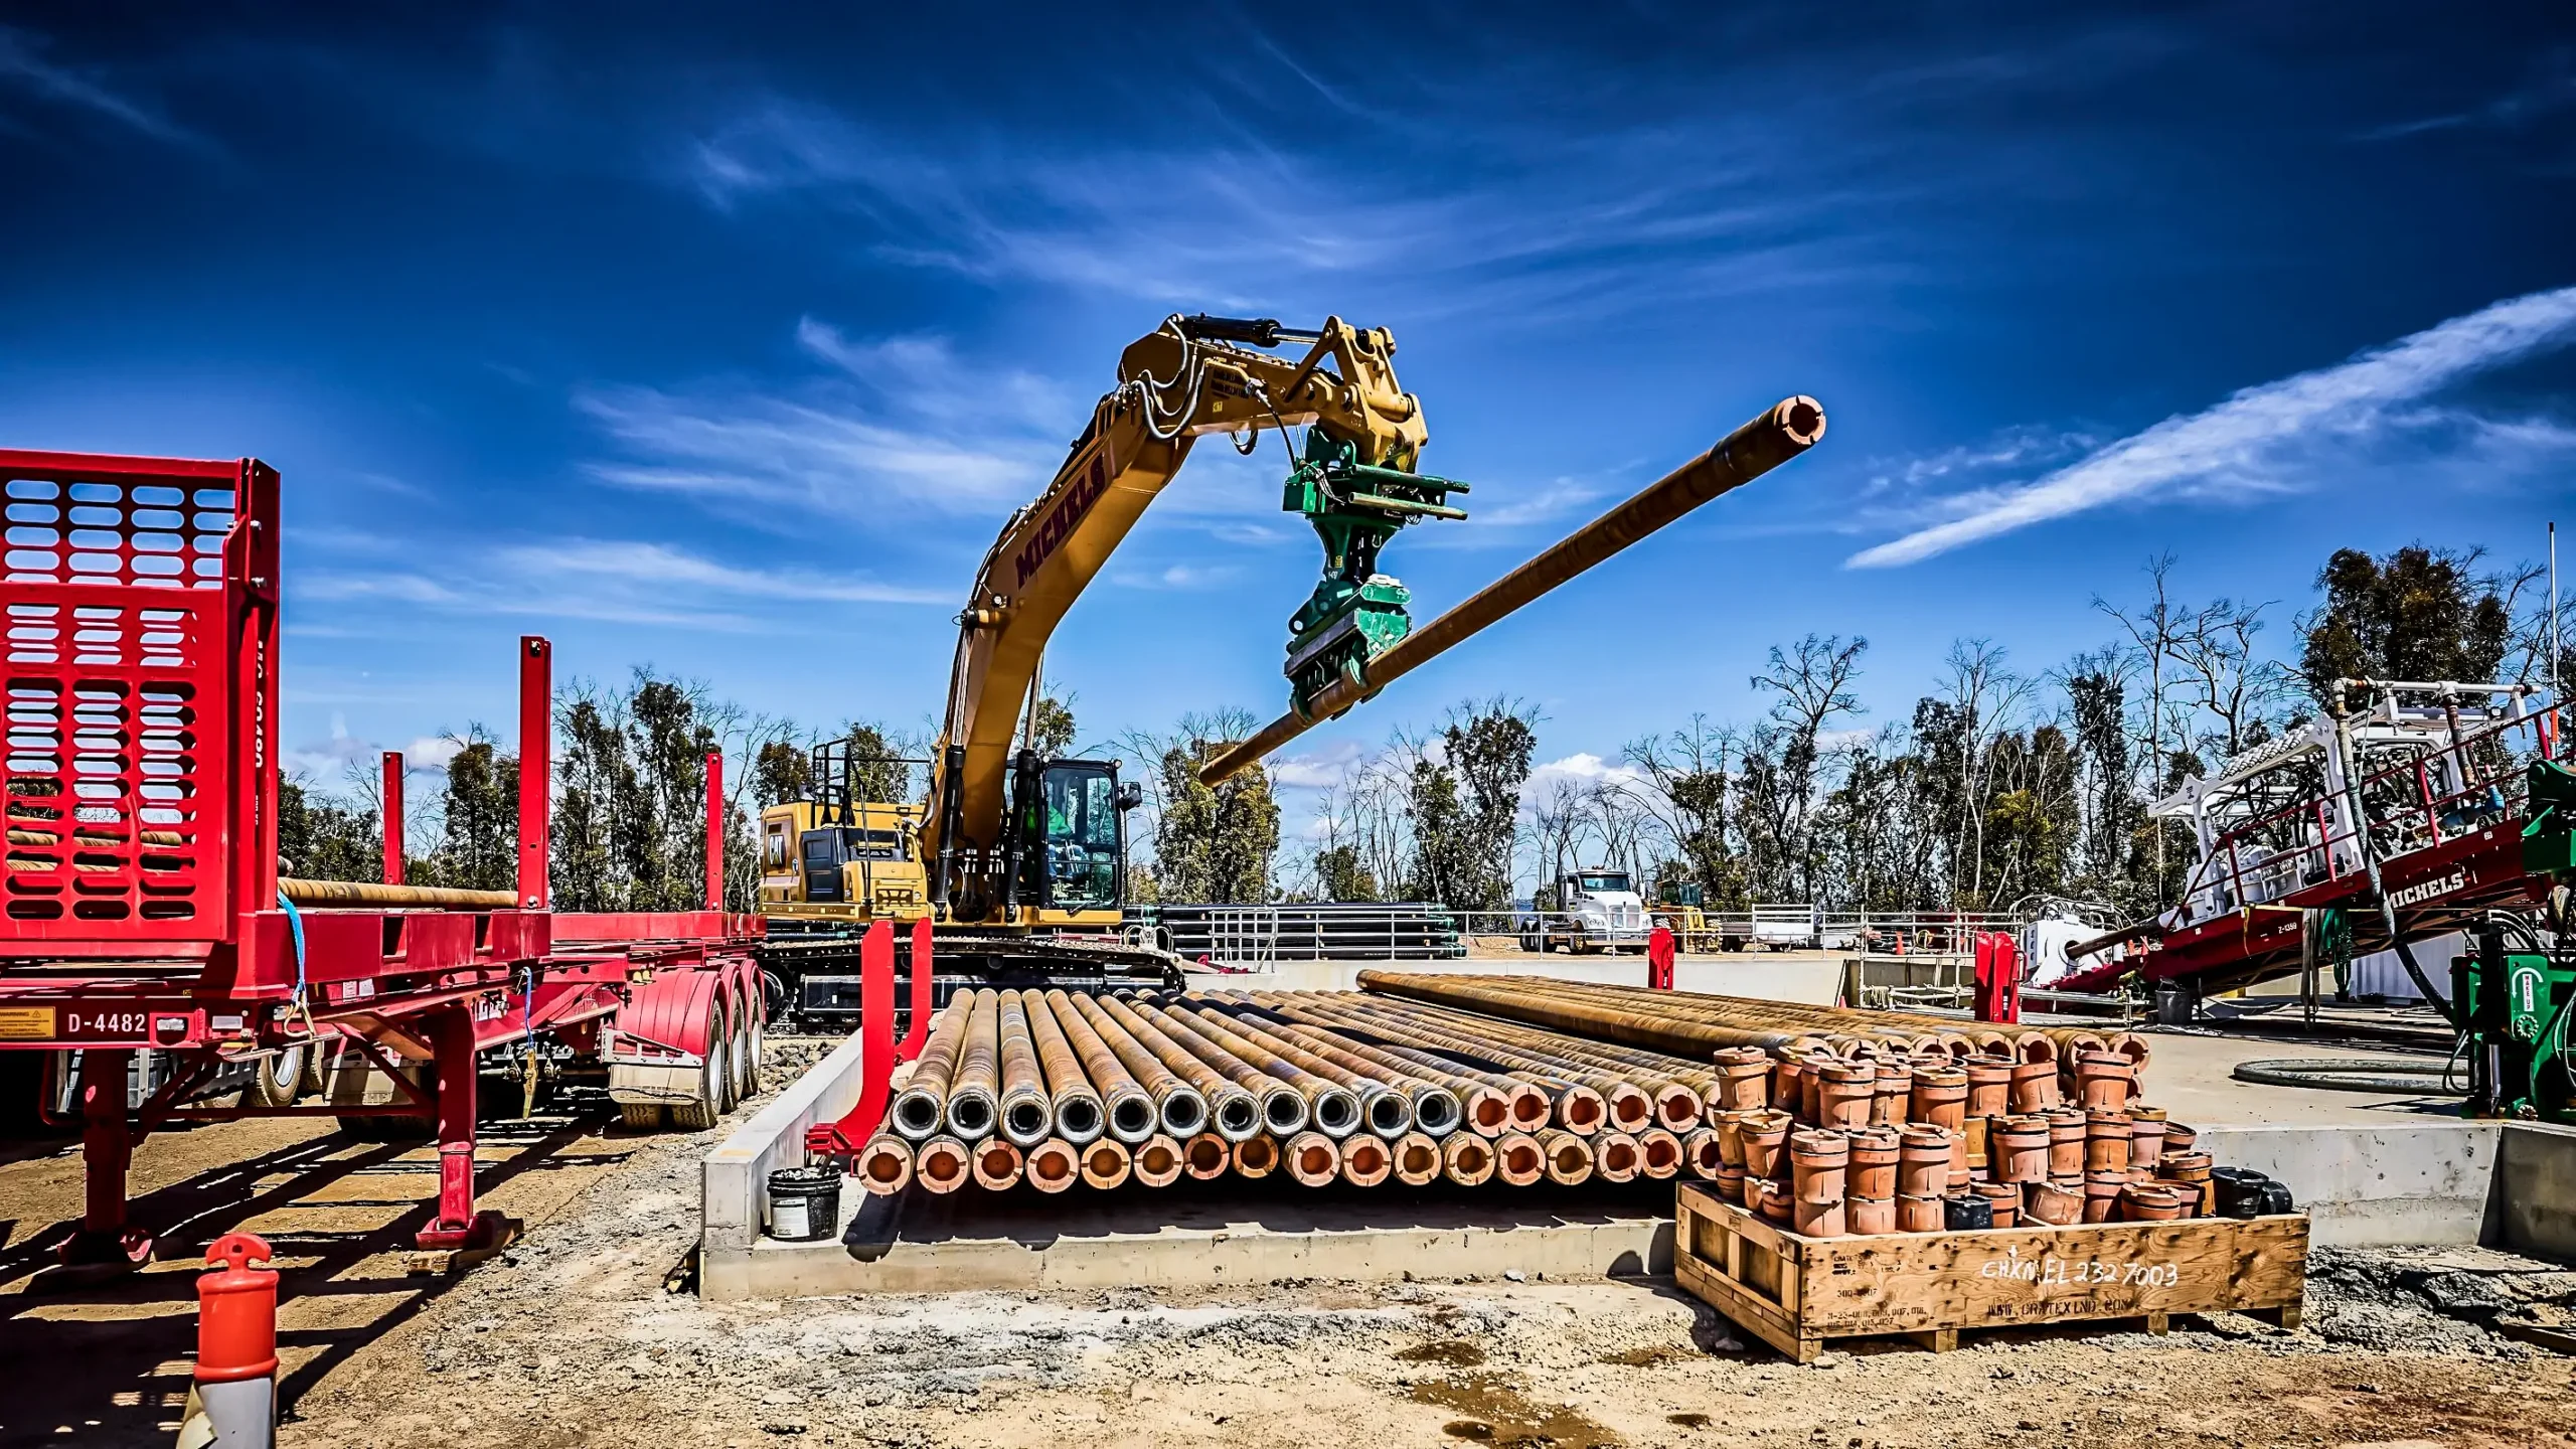
<path fill-rule="evenodd" d="M 1303 356 L 1257 351 L 1298 343 Z M 1262 428 L 1309 425 L 1309 462 L 1288 487 L 1291 505 L 1306 487 L 1306 513 L 1327 547 L 1327 583 L 1296 621 L 1296 629 L 1316 624 L 1316 639 L 1306 632 L 1298 639 L 1321 660 L 1319 678 L 1340 657 L 1334 650 L 1358 647 L 1360 624 L 1388 629 L 1381 621 L 1388 588 L 1391 629 L 1401 634 L 1401 588 L 1373 580 L 1376 544 L 1419 516 L 1463 518 L 1440 503 L 1463 485 L 1414 472 L 1430 433 L 1422 402 L 1396 382 L 1394 351 L 1383 327 L 1340 317 L 1311 333 L 1273 320 L 1170 317 L 1126 348 L 1118 387 L 1092 407 L 1046 492 L 1002 523 L 958 614 L 922 833 L 933 902 L 951 918 L 994 918 L 1015 895 L 989 882 L 1018 882 L 1018 864 L 999 856 L 1007 810 L 1025 807 L 1033 789 L 1030 779 L 1015 779 L 1036 761 L 1015 750 L 1012 735 L 1030 704 L 1038 655 L 1200 436 L 1234 433 L 1249 451 Z M 1370 583 L 1376 598 L 1363 598 Z M 1340 642 L 1321 639 L 1332 632 L 1327 614 Z M 1296 665 L 1293 657 L 1291 673 Z"/>

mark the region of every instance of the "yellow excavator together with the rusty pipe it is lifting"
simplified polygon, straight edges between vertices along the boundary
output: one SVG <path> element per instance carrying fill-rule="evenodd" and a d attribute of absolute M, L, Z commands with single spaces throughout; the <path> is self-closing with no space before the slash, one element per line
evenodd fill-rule
<path fill-rule="evenodd" d="M 1296 348 L 1280 353 L 1278 348 Z M 1716 449 L 1481 590 L 1427 629 L 1378 572 L 1409 523 L 1458 521 L 1468 487 L 1419 472 L 1430 431 L 1394 369 L 1383 327 L 1327 317 L 1170 317 L 1118 358 L 1064 467 L 1002 526 L 958 614 L 948 709 L 927 761 L 866 761 L 824 745 L 806 799 L 762 812 L 765 964 L 783 1006 L 850 1011 L 858 941 L 876 923 L 938 938 L 943 982 L 1180 982 L 1180 962 L 1123 931 L 1126 820 L 1141 786 L 1115 761 L 1046 758 L 1028 727 L 1048 634 L 1206 433 L 1252 454 L 1265 428 L 1291 443 L 1280 505 L 1314 526 L 1324 575 L 1288 619 L 1291 714 L 1203 763 L 1211 784 L 1288 735 L 1376 696 L 1396 673 L 1502 619 L 1620 547 L 1801 454 L 1824 410 L 1793 397 Z M 1430 634 L 1430 637 L 1425 637 Z M 863 799 L 871 766 L 927 771 L 917 802 Z"/>

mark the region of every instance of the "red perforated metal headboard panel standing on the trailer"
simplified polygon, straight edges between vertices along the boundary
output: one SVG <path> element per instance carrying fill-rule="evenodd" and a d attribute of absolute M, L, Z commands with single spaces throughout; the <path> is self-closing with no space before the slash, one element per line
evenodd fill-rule
<path fill-rule="evenodd" d="M 245 498 L 245 492 L 250 498 Z M 232 941 L 273 841 L 276 474 L 0 451 L 8 884 L 0 938 Z M 260 871 L 273 874 L 273 871 Z"/>

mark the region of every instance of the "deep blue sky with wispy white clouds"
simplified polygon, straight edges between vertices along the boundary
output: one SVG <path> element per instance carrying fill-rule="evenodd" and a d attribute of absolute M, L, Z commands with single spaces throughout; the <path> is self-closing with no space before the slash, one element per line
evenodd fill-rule
<path fill-rule="evenodd" d="M 1321 755 L 1494 691 L 1615 755 L 1811 629 L 1901 717 L 1955 637 L 2099 645 L 2154 552 L 2287 634 L 2334 547 L 2537 557 L 2576 498 L 2563 8 L 878 10 L 13 8 L 0 441 L 283 472 L 307 766 L 505 727 L 520 632 L 922 719 L 1170 312 L 1396 333 L 1476 485 L 1386 554 L 1422 619 L 1832 418 Z M 1203 446 L 1069 616 L 1087 737 L 1283 704 L 1278 459 Z"/>

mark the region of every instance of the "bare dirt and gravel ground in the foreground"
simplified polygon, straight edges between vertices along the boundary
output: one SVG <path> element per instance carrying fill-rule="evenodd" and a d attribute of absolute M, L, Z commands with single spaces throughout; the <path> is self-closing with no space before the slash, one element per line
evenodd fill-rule
<path fill-rule="evenodd" d="M 2313 1284 L 2298 1333 L 2226 1315 L 1857 1343 L 1814 1369 L 1651 1279 L 703 1305 L 696 1163 L 724 1129 L 603 1122 L 574 1101 L 492 1129 L 484 1201 L 528 1238 L 459 1276 L 404 1271 L 425 1152 L 252 1122 L 144 1147 L 152 1271 L 41 1284 L 77 1155 L 0 1150 L 0 1444 L 167 1444 L 193 1258 L 234 1225 L 283 1256 L 289 1449 L 2576 1441 L 2568 1359 L 2421 1312 L 2378 1261 Z"/>

